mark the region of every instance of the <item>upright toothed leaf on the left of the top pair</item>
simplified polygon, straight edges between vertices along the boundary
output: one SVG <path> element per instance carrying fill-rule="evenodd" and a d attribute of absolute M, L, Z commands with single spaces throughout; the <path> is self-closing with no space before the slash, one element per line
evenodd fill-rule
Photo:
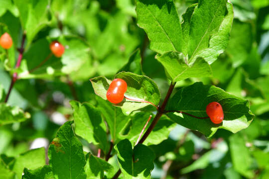
<path fill-rule="evenodd" d="M 136 14 L 151 50 L 160 54 L 182 51 L 181 23 L 173 0 L 137 0 Z"/>

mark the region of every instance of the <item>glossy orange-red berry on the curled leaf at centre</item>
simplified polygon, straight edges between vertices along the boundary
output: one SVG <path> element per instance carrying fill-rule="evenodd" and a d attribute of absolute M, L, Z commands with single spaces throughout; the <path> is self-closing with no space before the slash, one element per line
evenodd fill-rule
<path fill-rule="evenodd" d="M 115 79 L 107 91 L 107 99 L 114 104 L 122 102 L 127 91 L 127 83 L 122 79 Z"/>

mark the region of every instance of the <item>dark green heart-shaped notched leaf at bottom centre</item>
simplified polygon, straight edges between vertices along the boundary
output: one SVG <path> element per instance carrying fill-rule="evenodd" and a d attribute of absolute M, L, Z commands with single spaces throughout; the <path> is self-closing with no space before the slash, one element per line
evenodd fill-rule
<path fill-rule="evenodd" d="M 128 139 L 115 146 L 124 179 L 150 179 L 155 155 L 147 146 L 137 144 L 134 149 Z"/>

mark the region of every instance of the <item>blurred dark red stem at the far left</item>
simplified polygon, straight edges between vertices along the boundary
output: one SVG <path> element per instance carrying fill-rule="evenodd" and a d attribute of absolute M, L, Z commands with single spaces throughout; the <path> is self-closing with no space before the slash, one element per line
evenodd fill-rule
<path fill-rule="evenodd" d="M 24 47 L 23 46 L 24 46 L 25 38 L 26 38 L 26 34 L 23 33 L 22 40 L 21 40 L 21 45 L 20 45 L 20 48 L 18 49 L 19 55 L 18 55 L 18 59 L 17 59 L 15 69 L 19 68 L 21 60 L 22 60 L 22 56 L 23 56 L 23 52 L 24 52 Z M 11 92 L 17 78 L 18 78 L 18 74 L 15 72 L 13 74 L 12 81 L 11 81 L 11 83 L 9 85 L 9 89 L 8 89 L 8 92 L 7 92 L 6 96 L 5 96 L 4 102 L 7 102 L 8 98 L 9 98 L 9 95 L 10 95 L 10 92 Z"/>

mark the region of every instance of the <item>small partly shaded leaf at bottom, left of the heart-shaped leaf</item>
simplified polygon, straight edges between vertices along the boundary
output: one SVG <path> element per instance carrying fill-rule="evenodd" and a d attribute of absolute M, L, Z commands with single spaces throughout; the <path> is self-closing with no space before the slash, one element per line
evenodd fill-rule
<path fill-rule="evenodd" d="M 114 167 L 104 159 L 88 153 L 86 160 L 87 162 L 84 169 L 87 174 L 87 179 L 104 179 L 105 176 L 110 179 L 114 176 Z"/>

